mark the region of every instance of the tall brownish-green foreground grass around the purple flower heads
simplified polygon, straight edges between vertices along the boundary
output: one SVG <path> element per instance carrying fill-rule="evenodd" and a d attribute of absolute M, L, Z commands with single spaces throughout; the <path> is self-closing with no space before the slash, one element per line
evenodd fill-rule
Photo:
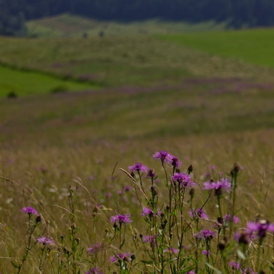
<path fill-rule="evenodd" d="M 231 260 L 245 269 L 267 271 L 271 266 L 271 236 L 241 245 L 234 232 L 245 231 L 248 221 L 273 220 L 268 206 L 272 199 L 272 135 L 271 131 L 214 134 L 208 138 L 158 138 L 156 142 L 101 142 L 64 148 L 2 146 L 1 204 L 5 221 L 1 226 L 1 271 L 17 273 L 20 266 L 22 273 L 38 269 L 46 273 L 84 273 L 99 267 L 103 273 L 214 273 L 214 267 L 222 273 L 240 273 L 228 265 Z M 175 169 L 168 162 L 153 160 L 152 144 L 184 155 L 180 169 L 190 173 L 188 166 L 192 164 L 191 180 L 197 184 L 194 190 L 190 191 L 187 184 L 184 191 L 177 188 L 171 181 Z M 234 160 L 240 162 L 241 169 L 236 196 L 225 191 L 216 196 L 214 190 L 202 189 L 210 179 L 217 182 L 234 175 L 229 175 Z M 134 169 L 137 161 L 154 168 L 155 177 L 146 178 L 143 169 L 139 175 Z M 239 223 L 218 223 L 220 214 L 232 214 L 233 203 Z M 27 206 L 39 215 L 21 212 Z M 145 214 L 144 208 L 153 213 Z M 191 208 L 202 208 L 208 217 L 189 216 Z M 131 214 L 128 218 L 132 222 L 125 225 L 111 219 L 119 214 Z M 178 234 L 182 228 L 183 238 Z M 203 229 L 212 230 L 210 242 L 195 236 Z M 49 237 L 54 244 L 36 242 L 41 237 Z M 171 253 L 164 251 L 171 247 Z M 203 254 L 204 250 L 210 250 L 210 255 Z M 125 253 L 131 254 L 119 255 Z"/>

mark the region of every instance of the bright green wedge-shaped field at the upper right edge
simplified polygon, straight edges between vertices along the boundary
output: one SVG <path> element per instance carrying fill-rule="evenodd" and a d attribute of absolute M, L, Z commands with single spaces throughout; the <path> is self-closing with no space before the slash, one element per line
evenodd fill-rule
<path fill-rule="evenodd" d="M 269 29 L 245 29 L 159 36 L 184 47 L 199 49 L 224 58 L 274 67 L 274 32 Z"/>

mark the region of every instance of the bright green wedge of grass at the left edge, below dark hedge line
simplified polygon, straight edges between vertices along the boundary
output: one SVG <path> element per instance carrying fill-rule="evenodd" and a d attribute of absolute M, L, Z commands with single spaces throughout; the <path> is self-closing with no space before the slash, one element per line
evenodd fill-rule
<path fill-rule="evenodd" d="M 96 88 L 91 84 L 63 80 L 34 71 L 16 70 L 7 66 L 0 66 L 0 75 L 0 97 L 7 97 L 10 92 L 14 92 L 18 97 L 54 93 L 56 89 L 61 91 L 61 87 L 63 92 Z"/>

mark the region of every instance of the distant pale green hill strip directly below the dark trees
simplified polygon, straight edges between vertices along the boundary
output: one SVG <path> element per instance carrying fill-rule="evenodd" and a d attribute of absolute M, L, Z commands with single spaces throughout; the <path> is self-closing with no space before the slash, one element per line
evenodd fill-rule
<path fill-rule="evenodd" d="M 225 29 L 225 23 L 169 22 L 160 19 L 136 22 L 99 21 L 71 14 L 40 18 L 27 22 L 27 36 L 33 37 L 99 37 L 182 32 L 208 32 Z"/>

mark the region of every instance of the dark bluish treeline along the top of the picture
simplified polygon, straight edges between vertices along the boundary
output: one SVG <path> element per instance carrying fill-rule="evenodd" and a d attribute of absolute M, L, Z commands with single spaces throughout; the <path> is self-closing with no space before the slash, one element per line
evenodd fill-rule
<path fill-rule="evenodd" d="M 0 34 L 23 34 L 25 21 L 64 12 L 116 21 L 161 18 L 227 21 L 235 28 L 274 25 L 273 0 L 0 0 Z"/>

